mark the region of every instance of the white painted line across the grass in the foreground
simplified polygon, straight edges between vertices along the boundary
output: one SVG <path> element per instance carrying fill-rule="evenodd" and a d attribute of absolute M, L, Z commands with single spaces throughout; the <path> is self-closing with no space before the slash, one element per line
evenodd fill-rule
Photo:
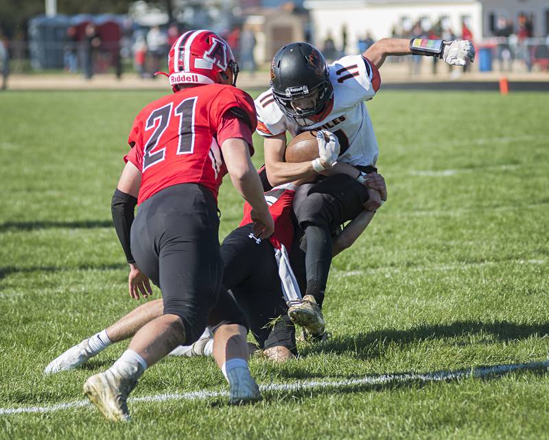
<path fill-rule="evenodd" d="M 522 364 L 492 365 L 491 367 L 479 367 L 476 369 L 459 369 L 454 371 L 433 371 L 431 373 L 406 373 L 406 374 L 382 374 L 381 376 L 365 376 L 364 378 L 349 380 L 302 380 L 294 383 L 261 385 L 261 391 L 300 391 L 318 388 L 349 388 L 362 387 L 364 385 L 381 385 L 390 382 L 440 382 L 443 380 L 455 380 L 460 378 L 485 378 L 492 375 L 503 375 L 513 371 L 533 369 L 548 369 L 549 360 L 529 362 Z M 200 400 L 207 398 L 220 398 L 229 395 L 227 391 L 194 391 L 191 393 L 156 394 L 141 398 L 130 398 L 130 402 L 165 402 L 167 400 Z M 13 415 L 24 413 L 54 413 L 63 409 L 91 406 L 87 400 L 78 400 L 49 406 L 23 406 L 20 408 L 0 408 L 0 415 Z"/>

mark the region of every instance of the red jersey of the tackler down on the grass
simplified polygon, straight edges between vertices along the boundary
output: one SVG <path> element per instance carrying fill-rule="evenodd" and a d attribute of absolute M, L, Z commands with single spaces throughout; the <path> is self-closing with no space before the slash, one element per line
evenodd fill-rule
<path fill-rule="evenodd" d="M 296 186 L 293 184 L 275 186 L 265 193 L 265 201 L 274 220 L 274 233 L 269 237 L 269 240 L 276 249 L 280 248 L 280 244 L 283 244 L 286 249 L 292 248 L 292 241 L 294 240 L 292 203 L 295 194 Z M 239 226 L 252 223 L 251 211 L 252 207 L 246 201 L 244 204 L 244 217 Z"/>

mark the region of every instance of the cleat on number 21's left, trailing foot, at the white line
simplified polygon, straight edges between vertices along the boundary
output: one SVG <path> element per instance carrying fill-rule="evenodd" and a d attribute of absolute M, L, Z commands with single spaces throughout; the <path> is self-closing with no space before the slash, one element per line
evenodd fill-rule
<path fill-rule="evenodd" d="M 137 379 L 123 378 L 108 369 L 91 376 L 84 383 L 84 395 L 110 421 L 130 421 L 128 394 L 135 388 Z"/>

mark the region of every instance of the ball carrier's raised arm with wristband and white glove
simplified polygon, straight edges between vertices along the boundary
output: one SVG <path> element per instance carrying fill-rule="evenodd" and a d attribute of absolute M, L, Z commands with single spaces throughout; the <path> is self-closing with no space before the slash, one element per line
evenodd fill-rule
<path fill-rule="evenodd" d="M 427 38 L 382 38 L 369 47 L 362 56 L 368 58 L 377 68 L 387 56 L 422 55 L 436 56 L 447 64 L 465 66 L 474 62 L 475 48 L 468 40 L 428 40 Z"/>

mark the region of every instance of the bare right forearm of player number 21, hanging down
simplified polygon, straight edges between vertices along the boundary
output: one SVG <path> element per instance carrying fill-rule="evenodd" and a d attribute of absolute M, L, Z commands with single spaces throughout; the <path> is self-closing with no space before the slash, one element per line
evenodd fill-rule
<path fill-rule="evenodd" d="M 255 236 L 266 239 L 274 232 L 274 221 L 265 201 L 261 180 L 250 159 L 248 144 L 241 138 L 228 138 L 223 141 L 221 151 L 233 185 L 252 207 Z"/>

